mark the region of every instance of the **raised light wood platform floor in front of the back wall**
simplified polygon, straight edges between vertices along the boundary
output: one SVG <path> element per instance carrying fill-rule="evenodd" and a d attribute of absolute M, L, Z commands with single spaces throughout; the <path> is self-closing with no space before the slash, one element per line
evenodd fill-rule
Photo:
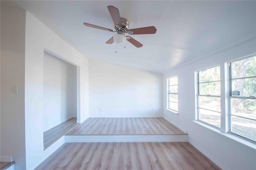
<path fill-rule="evenodd" d="M 66 135 L 186 134 L 163 118 L 88 118 Z"/>

